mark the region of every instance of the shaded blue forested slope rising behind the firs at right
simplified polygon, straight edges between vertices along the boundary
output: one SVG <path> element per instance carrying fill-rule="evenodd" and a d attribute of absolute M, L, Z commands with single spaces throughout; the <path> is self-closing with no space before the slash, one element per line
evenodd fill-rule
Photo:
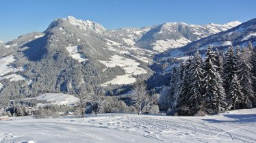
<path fill-rule="evenodd" d="M 181 48 L 169 50 L 165 54 L 168 55 L 168 57 L 187 57 L 194 54 L 196 50 L 205 52 L 208 46 L 218 48 L 218 50 L 225 50 L 231 45 L 239 45 L 242 48 L 243 46 L 247 46 L 249 41 L 252 42 L 254 46 L 256 45 L 256 19 L 244 22 L 227 31 L 222 31 L 191 42 Z"/>

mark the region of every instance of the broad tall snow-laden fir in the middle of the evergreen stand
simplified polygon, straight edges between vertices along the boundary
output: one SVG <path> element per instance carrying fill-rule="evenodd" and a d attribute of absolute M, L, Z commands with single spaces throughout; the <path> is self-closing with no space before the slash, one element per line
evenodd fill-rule
<path fill-rule="evenodd" d="M 212 51 L 211 47 L 208 47 L 204 63 L 204 82 L 205 104 L 209 114 L 222 112 L 226 106 L 225 91 L 222 87 L 222 78 L 218 73 L 216 63 L 216 54 Z"/>

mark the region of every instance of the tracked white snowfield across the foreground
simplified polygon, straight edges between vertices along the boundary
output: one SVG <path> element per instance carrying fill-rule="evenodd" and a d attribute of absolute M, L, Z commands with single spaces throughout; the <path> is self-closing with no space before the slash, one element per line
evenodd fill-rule
<path fill-rule="evenodd" d="M 203 117 L 12 117 L 10 121 L 0 121 L 0 142 L 256 142 L 255 121 L 256 108 Z"/>

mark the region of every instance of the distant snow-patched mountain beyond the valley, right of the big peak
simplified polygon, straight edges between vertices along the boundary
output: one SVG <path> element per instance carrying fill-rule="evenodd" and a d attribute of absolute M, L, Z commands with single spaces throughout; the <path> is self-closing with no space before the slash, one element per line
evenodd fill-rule
<path fill-rule="evenodd" d="M 188 25 L 184 22 L 166 22 L 153 27 L 136 42 L 136 46 L 163 52 L 172 48 L 179 48 L 195 40 L 209 35 L 226 31 L 241 22 L 234 21 L 225 25 Z"/>

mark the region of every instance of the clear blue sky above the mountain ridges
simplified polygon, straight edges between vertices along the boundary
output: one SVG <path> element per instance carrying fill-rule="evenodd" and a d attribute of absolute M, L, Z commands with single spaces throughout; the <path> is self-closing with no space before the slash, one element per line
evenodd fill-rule
<path fill-rule="evenodd" d="M 56 18 L 74 16 L 106 29 L 164 22 L 223 24 L 256 18 L 255 0 L 1 0 L 0 40 L 44 31 Z"/>

